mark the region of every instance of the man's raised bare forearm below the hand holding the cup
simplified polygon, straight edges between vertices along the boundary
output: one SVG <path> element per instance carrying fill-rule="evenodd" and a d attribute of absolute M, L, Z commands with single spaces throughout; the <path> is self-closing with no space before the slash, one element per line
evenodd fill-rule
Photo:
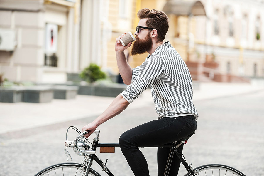
<path fill-rule="evenodd" d="M 124 83 L 129 85 L 132 79 L 132 68 L 126 61 L 126 56 L 123 51 L 116 51 L 116 61 Z"/>

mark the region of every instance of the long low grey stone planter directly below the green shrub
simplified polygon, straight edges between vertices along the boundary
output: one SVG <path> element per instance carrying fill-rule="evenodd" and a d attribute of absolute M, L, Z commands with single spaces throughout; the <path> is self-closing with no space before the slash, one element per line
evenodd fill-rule
<path fill-rule="evenodd" d="M 79 86 L 79 95 L 95 95 L 105 97 L 116 97 L 125 90 L 125 84 L 107 84 L 107 85 L 94 85 L 89 84 L 86 86 Z"/>

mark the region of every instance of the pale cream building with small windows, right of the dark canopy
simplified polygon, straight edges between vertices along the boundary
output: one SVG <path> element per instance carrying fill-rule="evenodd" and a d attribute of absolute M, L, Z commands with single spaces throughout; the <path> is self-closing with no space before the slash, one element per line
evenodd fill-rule
<path fill-rule="evenodd" d="M 264 1 L 204 0 L 202 3 L 207 19 L 195 19 L 194 33 L 195 51 L 200 53 L 202 61 L 209 62 L 211 56 L 219 65 L 215 72 L 219 75 L 263 78 Z"/>

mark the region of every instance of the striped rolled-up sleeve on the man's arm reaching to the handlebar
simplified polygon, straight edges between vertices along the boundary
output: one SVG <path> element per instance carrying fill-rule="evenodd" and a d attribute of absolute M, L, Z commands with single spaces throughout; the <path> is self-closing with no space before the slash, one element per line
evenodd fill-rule
<path fill-rule="evenodd" d="M 137 76 L 136 71 L 138 71 Z M 139 69 L 135 69 L 135 77 L 132 73 L 131 84 L 127 86 L 126 90 L 124 90 L 121 95 L 129 103 L 132 103 L 133 100 L 138 98 L 144 90 L 163 74 L 163 71 L 164 65 L 160 57 L 153 56 L 148 58 Z"/>

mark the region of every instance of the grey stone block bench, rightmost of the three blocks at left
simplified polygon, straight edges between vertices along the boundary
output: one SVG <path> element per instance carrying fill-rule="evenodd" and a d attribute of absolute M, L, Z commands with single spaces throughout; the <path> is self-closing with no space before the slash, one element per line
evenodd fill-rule
<path fill-rule="evenodd" d="M 52 87 L 55 99 L 72 99 L 78 93 L 78 86 L 55 85 Z"/>

